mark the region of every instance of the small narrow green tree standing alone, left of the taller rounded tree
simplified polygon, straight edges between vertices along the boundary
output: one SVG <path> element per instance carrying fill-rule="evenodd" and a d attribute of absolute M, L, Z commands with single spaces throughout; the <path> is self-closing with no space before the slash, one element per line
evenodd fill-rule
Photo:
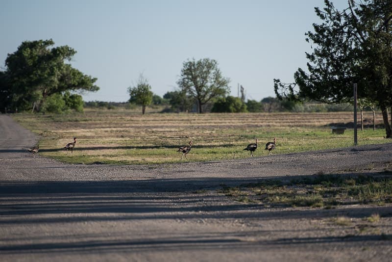
<path fill-rule="evenodd" d="M 142 114 L 145 114 L 146 106 L 150 105 L 152 102 L 153 93 L 147 79 L 145 79 L 142 74 L 139 76 L 136 86 L 128 87 L 128 93 L 131 96 L 129 102 L 142 105 Z"/>

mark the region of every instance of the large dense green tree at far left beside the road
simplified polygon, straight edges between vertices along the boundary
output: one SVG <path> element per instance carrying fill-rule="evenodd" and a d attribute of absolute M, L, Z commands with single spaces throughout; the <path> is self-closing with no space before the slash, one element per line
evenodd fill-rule
<path fill-rule="evenodd" d="M 68 46 L 53 47 L 53 40 L 25 41 L 5 59 L 1 73 L 1 96 L 7 94 L 8 106 L 35 109 L 46 98 L 65 91 L 97 91 L 96 78 L 84 75 L 70 62 L 75 50 Z M 4 106 L 4 105 L 3 105 Z"/>

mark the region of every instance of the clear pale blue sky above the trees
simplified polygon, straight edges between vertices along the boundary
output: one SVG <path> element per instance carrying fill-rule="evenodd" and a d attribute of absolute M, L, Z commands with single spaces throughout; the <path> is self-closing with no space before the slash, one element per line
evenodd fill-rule
<path fill-rule="evenodd" d="M 342 0 L 337 0 L 343 4 Z M 323 0 L 0 0 L 0 67 L 23 41 L 53 39 L 72 65 L 98 78 L 85 101 L 125 102 L 143 73 L 155 94 L 177 85 L 187 59 L 215 59 L 247 99 L 275 96 L 273 79 L 306 69 L 304 33 Z"/>

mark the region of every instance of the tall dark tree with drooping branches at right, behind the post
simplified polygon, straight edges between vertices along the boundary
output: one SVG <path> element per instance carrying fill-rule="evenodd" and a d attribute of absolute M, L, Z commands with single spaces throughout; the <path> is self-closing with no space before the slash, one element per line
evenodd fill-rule
<path fill-rule="evenodd" d="M 380 106 L 386 137 L 391 138 L 392 1 L 348 0 L 343 11 L 329 0 L 324 3 L 323 10 L 315 8 L 323 23 L 305 33 L 313 48 L 306 53 L 308 72 L 298 68 L 294 83 L 274 79 L 275 93 L 294 100 L 352 103 L 352 86 L 358 83 L 358 98 Z"/>

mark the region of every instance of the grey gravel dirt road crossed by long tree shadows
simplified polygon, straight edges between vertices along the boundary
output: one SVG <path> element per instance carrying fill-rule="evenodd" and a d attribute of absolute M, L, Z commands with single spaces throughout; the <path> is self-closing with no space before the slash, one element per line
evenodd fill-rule
<path fill-rule="evenodd" d="M 72 165 L 34 159 L 26 149 L 37 137 L 9 116 L 0 115 L 0 133 L 0 261 L 391 259 L 390 204 L 265 208 L 217 189 L 319 172 L 383 172 L 392 144 L 202 163 Z M 362 230 L 373 213 L 380 221 Z M 338 216 L 351 223 L 331 222 Z"/>

